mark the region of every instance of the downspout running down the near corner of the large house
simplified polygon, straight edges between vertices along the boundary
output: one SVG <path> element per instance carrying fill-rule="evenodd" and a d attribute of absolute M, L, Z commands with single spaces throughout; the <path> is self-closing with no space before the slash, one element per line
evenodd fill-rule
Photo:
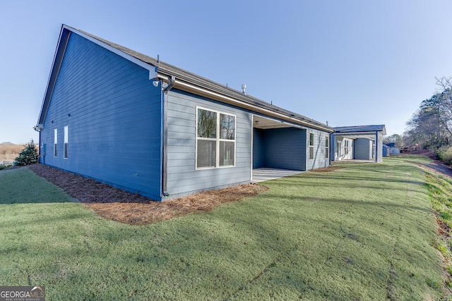
<path fill-rule="evenodd" d="M 167 192 L 168 179 L 168 126 L 167 126 L 167 108 L 168 108 L 168 92 L 174 87 L 176 77 L 174 75 L 169 79 L 169 82 L 160 82 L 161 85 L 161 102 L 162 102 L 162 196 L 169 197 Z M 165 85 L 166 84 L 166 85 Z"/>

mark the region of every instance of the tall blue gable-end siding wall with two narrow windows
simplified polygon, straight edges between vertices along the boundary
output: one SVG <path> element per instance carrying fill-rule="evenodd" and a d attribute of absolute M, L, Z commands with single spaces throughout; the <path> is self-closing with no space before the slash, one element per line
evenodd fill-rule
<path fill-rule="evenodd" d="M 72 33 L 40 135 L 41 162 L 159 199 L 160 116 L 148 70 Z"/>

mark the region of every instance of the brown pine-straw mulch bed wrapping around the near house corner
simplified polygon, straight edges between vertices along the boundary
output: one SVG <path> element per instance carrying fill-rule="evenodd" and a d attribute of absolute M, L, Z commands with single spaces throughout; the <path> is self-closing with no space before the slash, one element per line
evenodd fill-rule
<path fill-rule="evenodd" d="M 61 171 L 42 164 L 28 166 L 31 171 L 62 188 L 71 197 L 85 203 L 105 219 L 145 225 L 194 212 L 207 212 L 227 202 L 257 195 L 268 190 L 263 185 L 247 184 L 220 190 L 199 192 L 188 197 L 154 202 L 147 197 L 126 192 L 97 180 Z"/>

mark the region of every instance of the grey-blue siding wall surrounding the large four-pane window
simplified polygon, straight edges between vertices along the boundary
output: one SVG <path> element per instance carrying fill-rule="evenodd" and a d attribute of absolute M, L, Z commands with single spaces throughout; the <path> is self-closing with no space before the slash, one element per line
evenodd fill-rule
<path fill-rule="evenodd" d="M 236 116 L 235 166 L 196 170 L 196 106 Z M 167 192 L 189 195 L 251 181 L 251 113 L 212 99 L 171 90 L 167 101 Z"/>

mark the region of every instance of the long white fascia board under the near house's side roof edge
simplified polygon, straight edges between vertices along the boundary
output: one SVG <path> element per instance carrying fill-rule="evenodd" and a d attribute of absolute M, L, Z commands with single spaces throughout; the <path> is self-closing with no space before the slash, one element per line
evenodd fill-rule
<path fill-rule="evenodd" d="M 165 75 L 158 74 L 157 76 L 158 76 L 158 78 L 162 78 L 163 80 L 169 80 L 168 77 L 165 76 Z M 215 99 L 215 100 L 220 100 L 220 102 L 225 102 L 227 104 L 233 104 L 234 106 L 239 106 L 239 107 L 244 108 L 244 109 L 249 109 L 250 111 L 255 111 L 255 112 L 258 112 L 258 113 L 264 113 L 264 114 L 266 114 L 268 116 L 273 116 L 273 117 L 276 117 L 276 118 L 283 119 L 285 121 L 290 121 L 291 123 L 295 123 L 297 125 L 304 125 L 304 126 L 307 126 L 307 128 L 315 128 L 317 130 L 323 130 L 324 132 L 327 132 L 327 133 L 333 133 L 333 131 L 328 129 L 328 128 L 323 128 L 323 127 L 321 127 L 319 125 L 313 125 L 313 124 L 311 124 L 309 122 L 301 121 L 301 120 L 299 120 L 297 118 L 292 118 L 292 117 L 284 115 L 282 113 L 278 113 L 278 112 L 275 112 L 275 111 L 270 111 L 268 109 L 259 108 L 258 106 L 253 106 L 251 104 L 246 104 L 244 102 L 240 102 L 237 99 L 233 99 L 232 97 L 228 97 L 226 95 L 219 94 L 217 92 L 209 91 L 209 90 L 203 89 L 201 87 L 196 87 L 196 86 L 191 85 L 191 84 L 189 84 L 187 82 L 182 82 L 181 80 L 177 80 L 176 79 L 176 82 L 174 83 L 174 87 L 179 88 L 179 89 L 184 90 L 184 91 L 187 91 L 187 92 L 193 92 L 194 94 L 198 94 L 198 95 L 202 95 L 202 96 L 205 96 L 205 97 L 209 97 L 209 98 L 212 98 L 212 99 Z"/>

